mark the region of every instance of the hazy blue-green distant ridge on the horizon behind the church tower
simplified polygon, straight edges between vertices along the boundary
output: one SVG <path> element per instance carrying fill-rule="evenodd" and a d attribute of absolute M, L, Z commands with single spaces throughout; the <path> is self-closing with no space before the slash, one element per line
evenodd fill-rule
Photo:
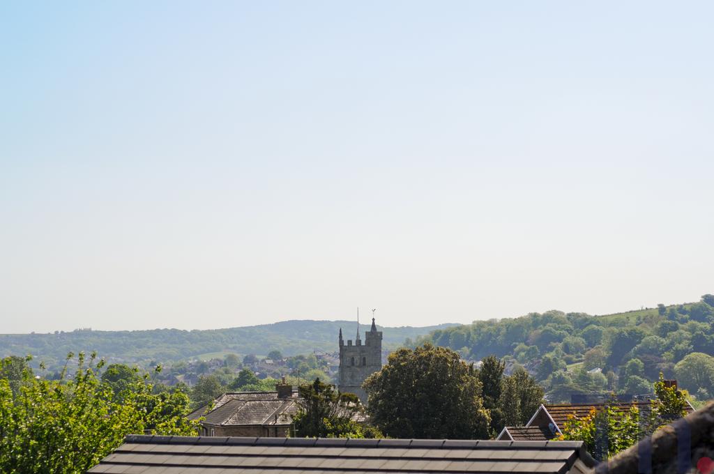
<path fill-rule="evenodd" d="M 265 355 L 279 348 L 283 356 L 335 351 L 337 333 L 348 321 L 282 321 L 260 326 L 208 331 L 154 329 L 151 331 L 60 331 L 47 334 L 0 334 L 0 355 L 34 354 L 49 370 L 61 370 L 69 351 L 98 351 L 109 362 L 150 367 L 151 360 L 169 363 L 178 360 L 208 359 L 208 353 L 223 358 L 227 353 Z M 406 338 L 417 338 L 438 328 L 383 328 L 383 348 L 400 347 Z"/>

